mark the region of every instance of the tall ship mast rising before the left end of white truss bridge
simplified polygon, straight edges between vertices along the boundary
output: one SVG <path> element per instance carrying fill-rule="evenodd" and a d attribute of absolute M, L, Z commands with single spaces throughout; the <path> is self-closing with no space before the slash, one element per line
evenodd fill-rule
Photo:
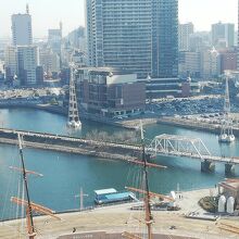
<path fill-rule="evenodd" d="M 146 207 L 146 225 L 148 230 L 148 239 L 152 239 L 152 213 L 151 213 L 151 205 L 150 205 L 150 191 L 149 191 L 149 180 L 148 180 L 148 169 L 147 169 L 147 159 L 146 159 L 146 147 L 144 147 L 144 138 L 143 138 L 143 130 L 142 130 L 142 123 L 141 123 L 141 144 L 142 144 L 142 161 L 143 161 L 143 183 L 144 183 L 144 207 Z"/>

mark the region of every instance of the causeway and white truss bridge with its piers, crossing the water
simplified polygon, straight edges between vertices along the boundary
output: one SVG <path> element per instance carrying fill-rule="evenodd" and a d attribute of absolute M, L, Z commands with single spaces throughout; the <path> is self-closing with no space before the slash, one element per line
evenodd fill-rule
<path fill-rule="evenodd" d="M 80 153 L 92 156 L 133 161 L 139 158 L 141 147 L 117 142 L 97 141 L 72 136 L 53 135 L 0 128 L 0 142 L 17 144 L 17 134 L 24 138 L 26 147 Z M 232 172 L 239 158 L 212 155 L 199 138 L 179 135 L 159 135 L 146 147 L 151 155 L 180 156 L 201 161 L 202 171 L 213 171 L 215 162 L 225 163 L 225 172 Z"/>

